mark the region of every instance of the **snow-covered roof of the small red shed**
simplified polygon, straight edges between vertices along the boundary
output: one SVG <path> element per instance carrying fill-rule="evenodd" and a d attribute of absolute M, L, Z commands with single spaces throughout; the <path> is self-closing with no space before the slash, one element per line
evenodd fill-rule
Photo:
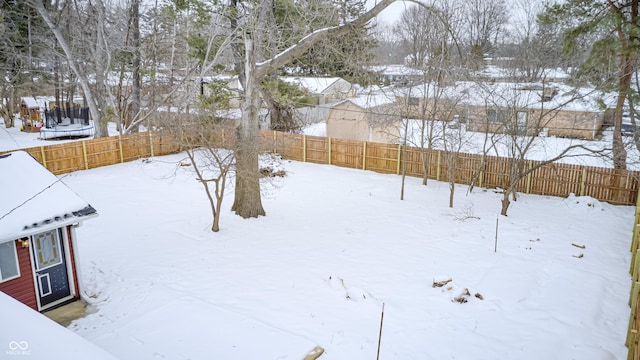
<path fill-rule="evenodd" d="M 0 155 L 0 243 L 78 223 L 96 216 L 82 200 L 31 155 Z"/>

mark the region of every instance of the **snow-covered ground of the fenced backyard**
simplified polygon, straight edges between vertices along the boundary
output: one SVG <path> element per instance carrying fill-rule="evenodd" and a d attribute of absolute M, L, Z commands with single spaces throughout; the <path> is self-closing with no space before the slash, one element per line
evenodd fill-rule
<path fill-rule="evenodd" d="M 383 304 L 380 359 L 626 357 L 634 207 L 523 194 L 500 217 L 491 190 L 450 209 L 445 183 L 401 201 L 397 176 L 284 161 L 267 216 L 229 189 L 212 233 L 183 158 L 62 177 L 100 214 L 77 229 L 96 311 L 69 328 L 120 359 L 375 359 Z"/>

